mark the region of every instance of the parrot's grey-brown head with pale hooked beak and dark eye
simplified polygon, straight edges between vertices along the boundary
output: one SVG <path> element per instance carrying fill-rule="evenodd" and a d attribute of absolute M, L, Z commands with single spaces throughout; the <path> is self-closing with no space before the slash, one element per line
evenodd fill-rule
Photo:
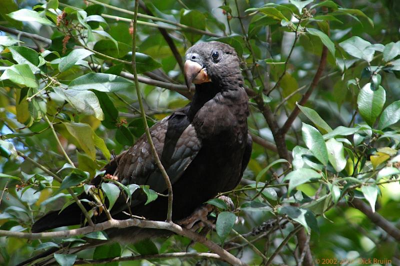
<path fill-rule="evenodd" d="M 223 86 L 243 82 L 236 51 L 226 43 L 210 41 L 194 44 L 186 51 L 185 60 L 187 88 L 191 83 L 212 82 Z"/>

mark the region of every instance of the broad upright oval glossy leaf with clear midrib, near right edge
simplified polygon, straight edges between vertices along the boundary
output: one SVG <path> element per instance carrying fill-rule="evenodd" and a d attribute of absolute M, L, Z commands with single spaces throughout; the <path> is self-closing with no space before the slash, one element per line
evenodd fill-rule
<path fill-rule="evenodd" d="M 362 118 L 372 126 L 376 118 L 380 114 L 384 102 L 386 100 L 386 92 L 382 86 L 372 90 L 371 83 L 366 83 L 358 93 L 357 105 Z"/>

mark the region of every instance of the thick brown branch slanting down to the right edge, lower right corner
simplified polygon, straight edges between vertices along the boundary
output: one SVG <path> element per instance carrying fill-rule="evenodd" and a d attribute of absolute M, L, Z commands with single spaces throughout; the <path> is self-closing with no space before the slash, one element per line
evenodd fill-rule
<path fill-rule="evenodd" d="M 382 217 L 379 213 L 372 212 L 370 206 L 365 204 L 361 199 L 353 198 L 350 202 L 348 202 L 348 204 L 351 207 L 360 210 L 368 217 L 368 219 L 370 219 L 373 223 L 375 223 L 377 226 L 379 226 L 385 232 L 387 232 L 387 234 L 392 236 L 397 241 L 400 241 L 400 229 L 393 226 L 388 220 Z"/>

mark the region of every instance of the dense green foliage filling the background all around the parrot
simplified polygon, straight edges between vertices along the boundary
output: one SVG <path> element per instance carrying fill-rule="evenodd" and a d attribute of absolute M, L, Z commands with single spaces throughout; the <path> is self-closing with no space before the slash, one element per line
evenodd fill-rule
<path fill-rule="evenodd" d="M 143 134 L 130 74 L 132 9 L 130 0 L 2 0 L 1 230 L 29 232 L 37 217 L 73 201 L 65 188 L 74 193 L 89 189 L 85 183 L 111 153 L 118 154 Z M 233 226 L 267 258 L 277 250 L 274 264 L 294 265 L 302 260 L 296 237 L 277 248 L 299 224 L 310 234 L 316 264 L 328 258 L 354 265 L 360 258 L 400 264 L 398 239 L 351 207 L 354 198 L 362 199 L 399 230 L 400 3 L 148 0 L 139 12 L 135 50 L 149 125 L 187 104 L 191 94 L 179 86 L 184 80 L 178 57 L 191 44 L 226 42 L 242 61 L 251 105 L 249 131 L 261 139 L 254 139 L 242 182 L 225 193 L 235 210 L 210 201 L 219 213 L 210 239 L 224 242 L 246 263 L 265 263 L 235 237 Z M 326 66 L 313 84 L 323 45 Z M 312 93 L 299 105 L 306 91 Z M 295 108 L 300 113 L 287 133 L 271 130 L 265 113 L 283 128 Z M 279 134 L 283 142 L 276 138 Z M 263 140 L 274 142 L 279 154 L 283 143 L 291 156 L 279 158 Z M 65 164 L 63 150 L 77 168 Z M 57 173 L 62 182 L 32 161 Z M 137 189 L 110 182 L 101 187 L 100 200 L 108 197 L 111 202 L 118 188 L 128 195 Z M 157 196 L 151 187 L 141 189 L 148 200 Z M 15 264 L 60 243 L 81 241 L 1 236 L 0 263 Z M 79 258 L 185 250 L 208 251 L 173 236 L 135 245 L 114 243 L 55 259 L 69 265 Z M 224 263 L 193 257 L 148 261 Z"/>

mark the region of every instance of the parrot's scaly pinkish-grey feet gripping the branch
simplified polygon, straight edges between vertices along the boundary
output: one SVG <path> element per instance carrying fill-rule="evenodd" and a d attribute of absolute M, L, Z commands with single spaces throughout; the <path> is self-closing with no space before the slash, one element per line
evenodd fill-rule
<path fill-rule="evenodd" d="M 233 201 L 230 199 L 228 196 L 219 196 L 219 199 L 223 200 L 228 208 L 231 210 L 234 209 L 234 204 Z M 177 224 L 179 224 L 182 227 L 185 227 L 186 229 L 191 229 L 191 230 L 197 230 L 200 227 L 208 227 L 208 228 L 214 228 L 215 224 L 213 223 L 213 220 L 208 219 L 208 214 L 211 213 L 215 209 L 214 205 L 211 204 L 204 204 L 198 208 L 196 208 L 190 216 L 183 218 L 181 220 L 177 221 Z"/>

